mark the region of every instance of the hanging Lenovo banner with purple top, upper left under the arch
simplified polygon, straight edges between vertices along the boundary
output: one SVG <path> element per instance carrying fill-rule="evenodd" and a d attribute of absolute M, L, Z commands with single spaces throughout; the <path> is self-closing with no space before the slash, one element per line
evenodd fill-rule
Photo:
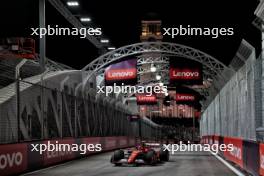
<path fill-rule="evenodd" d="M 137 60 L 130 59 L 112 64 L 105 69 L 105 85 L 134 85 L 137 82 Z"/>

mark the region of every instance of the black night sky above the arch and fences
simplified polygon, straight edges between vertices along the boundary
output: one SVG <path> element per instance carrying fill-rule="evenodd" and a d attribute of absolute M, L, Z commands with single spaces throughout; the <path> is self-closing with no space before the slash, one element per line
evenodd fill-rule
<path fill-rule="evenodd" d="M 115 47 L 140 42 L 140 22 L 151 12 L 160 17 L 162 27 L 182 24 L 193 27 L 234 28 L 233 36 L 218 39 L 204 36 L 178 36 L 174 39 L 165 37 L 164 41 L 197 48 L 226 64 L 234 57 L 242 38 L 251 43 L 259 53 L 261 35 L 252 25 L 255 19 L 254 10 L 258 5 L 257 0 L 79 1 L 80 7 L 72 12 L 76 15 L 89 15 Z M 38 27 L 38 1 L 2 1 L 0 20 L 1 38 L 29 37 L 30 28 Z M 46 24 L 72 27 L 49 2 L 46 5 Z M 37 40 L 36 36 L 34 38 Z M 83 68 L 97 56 L 97 49 L 86 39 L 76 36 L 47 37 L 47 57 L 76 69 Z"/>

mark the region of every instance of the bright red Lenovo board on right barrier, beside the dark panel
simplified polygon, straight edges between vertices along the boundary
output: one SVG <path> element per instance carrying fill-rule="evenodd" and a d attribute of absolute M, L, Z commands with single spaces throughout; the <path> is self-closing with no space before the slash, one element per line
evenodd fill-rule
<path fill-rule="evenodd" d="M 224 144 L 227 146 L 228 144 L 233 144 L 232 151 L 225 151 L 224 156 L 228 160 L 236 163 L 241 168 L 243 168 L 243 142 L 238 138 L 224 137 Z"/>

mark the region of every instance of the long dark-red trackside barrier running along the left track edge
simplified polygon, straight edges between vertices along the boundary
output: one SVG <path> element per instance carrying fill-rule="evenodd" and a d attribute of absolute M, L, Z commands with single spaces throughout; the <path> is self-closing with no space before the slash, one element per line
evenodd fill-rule
<path fill-rule="evenodd" d="M 31 144 L 101 144 L 102 151 L 90 151 L 86 154 L 73 151 L 31 151 Z M 95 153 L 106 152 L 118 148 L 126 148 L 136 145 L 136 139 L 126 136 L 120 137 L 88 137 L 88 138 L 65 138 L 44 141 L 25 142 L 20 144 L 0 145 L 0 176 L 24 173 L 54 164 L 66 162 L 76 158 Z"/>

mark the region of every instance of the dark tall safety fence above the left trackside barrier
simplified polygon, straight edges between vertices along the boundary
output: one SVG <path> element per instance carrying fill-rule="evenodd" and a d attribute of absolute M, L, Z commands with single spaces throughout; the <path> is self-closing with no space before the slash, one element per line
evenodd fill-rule
<path fill-rule="evenodd" d="M 84 99 L 69 86 L 58 89 L 55 81 L 40 85 L 19 80 L 18 84 L 19 94 L 0 103 L 0 143 L 65 137 L 161 137 L 158 127 L 141 119 L 139 134 L 139 123 L 131 121 L 116 100 Z"/>

